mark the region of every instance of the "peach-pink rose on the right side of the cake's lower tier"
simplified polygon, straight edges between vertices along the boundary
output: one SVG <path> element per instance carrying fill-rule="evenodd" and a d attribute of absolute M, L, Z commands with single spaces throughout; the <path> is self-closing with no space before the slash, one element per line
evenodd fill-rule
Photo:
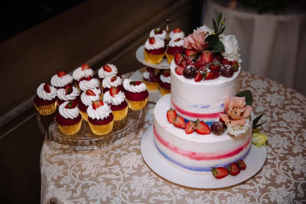
<path fill-rule="evenodd" d="M 224 102 L 225 114 L 219 114 L 225 123 L 231 122 L 233 126 L 244 125 L 245 118 L 252 111 L 252 107 L 245 103 L 245 97 L 234 96 L 226 98 Z"/>

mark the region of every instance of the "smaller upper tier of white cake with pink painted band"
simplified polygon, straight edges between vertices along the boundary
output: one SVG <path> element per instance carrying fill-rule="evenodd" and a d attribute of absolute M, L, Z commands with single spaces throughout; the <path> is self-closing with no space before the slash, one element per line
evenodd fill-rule
<path fill-rule="evenodd" d="M 240 67 L 231 78 L 219 77 L 211 81 L 194 82 L 175 73 L 171 62 L 171 108 L 187 120 L 200 119 L 208 125 L 224 113 L 224 101 L 238 93 Z"/>

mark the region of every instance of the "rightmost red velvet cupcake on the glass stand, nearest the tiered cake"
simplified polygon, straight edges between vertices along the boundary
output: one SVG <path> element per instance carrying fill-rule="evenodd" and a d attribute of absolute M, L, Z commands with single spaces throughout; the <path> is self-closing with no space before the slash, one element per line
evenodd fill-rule
<path fill-rule="evenodd" d="M 125 89 L 125 98 L 127 103 L 129 103 L 130 109 L 141 110 L 146 106 L 149 93 L 144 83 L 124 79 L 123 87 Z"/>

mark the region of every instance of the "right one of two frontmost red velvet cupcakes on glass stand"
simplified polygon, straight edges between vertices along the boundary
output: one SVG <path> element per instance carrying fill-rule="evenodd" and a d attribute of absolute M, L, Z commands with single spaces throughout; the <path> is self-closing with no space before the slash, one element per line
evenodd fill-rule
<path fill-rule="evenodd" d="M 114 116 L 111 107 L 102 100 L 93 101 L 87 109 L 88 124 L 96 135 L 105 135 L 113 130 Z"/>

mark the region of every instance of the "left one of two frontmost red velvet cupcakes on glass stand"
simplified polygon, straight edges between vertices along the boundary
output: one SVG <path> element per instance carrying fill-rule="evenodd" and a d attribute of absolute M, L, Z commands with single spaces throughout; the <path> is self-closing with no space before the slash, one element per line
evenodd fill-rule
<path fill-rule="evenodd" d="M 82 125 L 82 117 L 76 100 L 65 101 L 55 115 L 55 122 L 64 135 L 78 133 Z"/>

